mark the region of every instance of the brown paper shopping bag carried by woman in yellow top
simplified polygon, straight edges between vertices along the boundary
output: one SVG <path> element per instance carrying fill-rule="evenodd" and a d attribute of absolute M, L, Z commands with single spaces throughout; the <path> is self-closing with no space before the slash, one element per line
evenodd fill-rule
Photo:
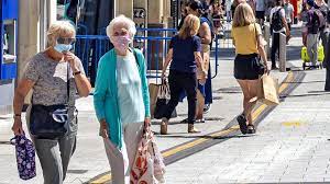
<path fill-rule="evenodd" d="M 268 74 L 261 77 L 257 99 L 266 105 L 278 105 L 278 80 Z"/>

